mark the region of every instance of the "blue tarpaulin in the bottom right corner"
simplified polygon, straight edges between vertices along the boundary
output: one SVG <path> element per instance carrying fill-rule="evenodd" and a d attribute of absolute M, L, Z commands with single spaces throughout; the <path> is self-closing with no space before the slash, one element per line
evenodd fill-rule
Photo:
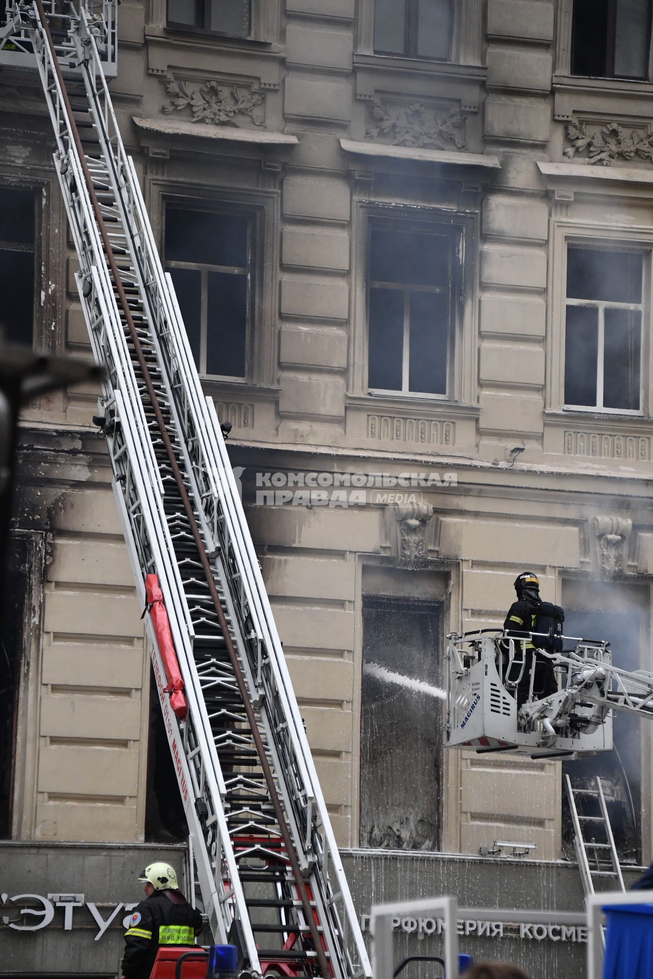
<path fill-rule="evenodd" d="M 606 905 L 603 979 L 651 979 L 653 905 Z"/>

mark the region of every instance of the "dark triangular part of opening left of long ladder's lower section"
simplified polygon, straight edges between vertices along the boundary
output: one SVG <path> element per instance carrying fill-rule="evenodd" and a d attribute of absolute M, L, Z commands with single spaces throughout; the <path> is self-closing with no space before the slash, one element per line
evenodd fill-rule
<path fill-rule="evenodd" d="M 154 670 L 151 670 L 145 841 L 146 843 L 176 843 L 187 838 L 188 823 L 165 733 Z"/>

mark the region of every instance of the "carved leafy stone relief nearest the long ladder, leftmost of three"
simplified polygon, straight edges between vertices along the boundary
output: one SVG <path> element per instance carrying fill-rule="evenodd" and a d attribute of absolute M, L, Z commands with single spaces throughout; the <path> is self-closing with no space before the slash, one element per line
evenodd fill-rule
<path fill-rule="evenodd" d="M 165 82 L 169 104 L 163 112 L 190 111 L 193 122 L 243 127 L 247 120 L 265 126 L 264 95 L 257 95 L 244 85 L 225 85 L 221 81 L 191 82 L 169 78 Z"/>

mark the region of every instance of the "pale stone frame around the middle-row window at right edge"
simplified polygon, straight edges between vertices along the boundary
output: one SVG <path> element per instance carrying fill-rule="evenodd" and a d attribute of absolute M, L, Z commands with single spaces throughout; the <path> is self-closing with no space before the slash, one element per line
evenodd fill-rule
<path fill-rule="evenodd" d="M 592 247 L 612 247 L 639 249 L 647 253 L 644 260 L 644 315 L 643 343 L 641 347 L 642 401 L 638 412 L 610 408 L 582 406 L 565 407 L 565 317 L 567 299 L 567 246 L 587 244 Z M 564 414 L 566 417 L 587 419 L 600 417 L 602 421 L 619 422 L 627 419 L 635 422 L 650 417 L 653 409 L 650 385 L 653 378 L 653 328 L 651 324 L 651 282 L 653 276 L 653 236 L 640 228 L 610 228 L 607 225 L 597 228 L 571 219 L 554 221 L 549 251 L 550 297 L 546 342 L 546 411 Z"/>

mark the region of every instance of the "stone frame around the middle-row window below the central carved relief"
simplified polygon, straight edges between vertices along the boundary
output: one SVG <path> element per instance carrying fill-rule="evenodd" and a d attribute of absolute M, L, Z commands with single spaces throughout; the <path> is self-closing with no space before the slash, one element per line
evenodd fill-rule
<path fill-rule="evenodd" d="M 417 395 L 412 392 L 372 394 L 367 387 L 367 286 L 369 221 L 374 218 L 395 218 L 397 221 L 449 227 L 458 235 L 459 258 L 473 256 L 478 250 L 478 215 L 451 212 L 439 207 L 396 207 L 396 205 L 354 203 L 352 220 L 351 267 L 354 272 L 352 291 L 353 337 L 350 344 L 349 394 L 364 397 L 370 404 L 392 401 L 396 405 L 431 404 L 443 408 L 451 404 L 473 405 L 476 397 L 475 337 L 477 332 L 478 262 L 460 261 L 460 279 L 454 293 L 453 357 L 449 368 L 450 390 L 447 395 Z M 455 247 L 455 246 L 454 246 Z"/>

